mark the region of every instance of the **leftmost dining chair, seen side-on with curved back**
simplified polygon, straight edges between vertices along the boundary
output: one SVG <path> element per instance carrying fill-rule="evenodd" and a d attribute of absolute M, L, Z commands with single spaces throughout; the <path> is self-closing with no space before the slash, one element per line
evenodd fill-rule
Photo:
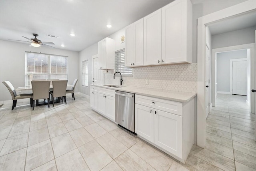
<path fill-rule="evenodd" d="M 9 81 L 5 81 L 3 83 L 8 88 L 8 90 L 10 91 L 10 93 L 12 95 L 12 110 L 14 109 L 14 107 L 16 107 L 18 99 L 30 98 L 30 106 L 32 107 L 32 93 L 23 93 L 23 94 L 17 95 L 14 87 L 12 86 L 12 84 Z"/>

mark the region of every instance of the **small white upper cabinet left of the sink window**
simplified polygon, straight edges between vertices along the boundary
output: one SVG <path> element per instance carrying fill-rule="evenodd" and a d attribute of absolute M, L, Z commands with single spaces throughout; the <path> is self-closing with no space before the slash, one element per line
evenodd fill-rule
<path fill-rule="evenodd" d="M 98 42 L 98 56 L 100 70 L 114 70 L 115 41 L 104 38 Z"/>

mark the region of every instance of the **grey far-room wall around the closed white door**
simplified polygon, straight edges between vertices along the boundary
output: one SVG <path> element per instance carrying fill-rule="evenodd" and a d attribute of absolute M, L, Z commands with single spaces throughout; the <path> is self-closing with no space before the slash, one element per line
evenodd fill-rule
<path fill-rule="evenodd" d="M 247 58 L 247 50 L 221 52 L 217 58 L 217 91 L 230 92 L 230 60 Z"/>

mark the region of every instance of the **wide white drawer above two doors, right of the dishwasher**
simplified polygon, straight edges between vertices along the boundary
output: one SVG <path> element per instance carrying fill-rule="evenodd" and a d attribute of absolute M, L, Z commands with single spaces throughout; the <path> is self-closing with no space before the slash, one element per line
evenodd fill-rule
<path fill-rule="evenodd" d="M 182 116 L 182 103 L 179 102 L 135 95 L 135 103 Z"/>

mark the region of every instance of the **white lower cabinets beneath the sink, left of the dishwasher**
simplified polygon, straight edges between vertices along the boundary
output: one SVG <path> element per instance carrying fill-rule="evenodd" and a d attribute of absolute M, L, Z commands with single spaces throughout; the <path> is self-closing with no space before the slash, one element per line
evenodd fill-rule
<path fill-rule="evenodd" d="M 115 121 L 114 90 L 91 87 L 90 107 L 108 119 Z"/>

